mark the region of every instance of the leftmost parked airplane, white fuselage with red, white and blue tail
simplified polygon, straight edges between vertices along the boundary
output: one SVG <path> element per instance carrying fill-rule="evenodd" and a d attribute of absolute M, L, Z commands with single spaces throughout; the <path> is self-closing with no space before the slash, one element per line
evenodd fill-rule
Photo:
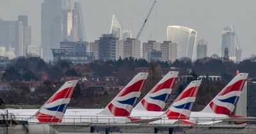
<path fill-rule="evenodd" d="M 18 120 L 29 119 L 29 121 L 36 122 L 61 122 L 72 94 L 74 93 L 77 81 L 78 80 L 70 80 L 65 82 L 65 84 L 63 84 L 63 86 L 61 86 L 38 110 L 9 109 L 8 112 L 16 115 Z M 31 118 L 31 115 L 35 115 L 36 119 Z"/>

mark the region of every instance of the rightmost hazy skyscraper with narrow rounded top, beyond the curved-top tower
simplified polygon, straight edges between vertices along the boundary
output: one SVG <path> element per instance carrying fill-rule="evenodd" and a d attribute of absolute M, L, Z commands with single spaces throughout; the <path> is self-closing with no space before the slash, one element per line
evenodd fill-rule
<path fill-rule="evenodd" d="M 241 61 L 242 49 L 237 41 L 237 35 L 234 26 L 230 25 L 222 31 L 222 57 L 225 56 L 225 48 L 228 48 L 229 59 L 232 61 Z"/>

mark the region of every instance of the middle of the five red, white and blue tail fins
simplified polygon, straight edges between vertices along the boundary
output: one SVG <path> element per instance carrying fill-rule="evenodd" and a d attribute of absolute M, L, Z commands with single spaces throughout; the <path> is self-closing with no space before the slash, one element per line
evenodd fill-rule
<path fill-rule="evenodd" d="M 134 107 L 134 110 L 162 111 L 169 98 L 179 71 L 168 72 L 162 80 Z"/>

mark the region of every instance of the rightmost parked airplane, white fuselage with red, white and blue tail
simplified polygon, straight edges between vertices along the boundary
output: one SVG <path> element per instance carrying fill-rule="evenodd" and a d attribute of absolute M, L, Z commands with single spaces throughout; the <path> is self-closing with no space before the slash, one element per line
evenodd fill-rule
<path fill-rule="evenodd" d="M 248 73 L 236 75 L 202 111 L 192 112 L 191 119 L 198 121 L 197 124 L 212 124 L 230 120 L 255 120 L 254 117 L 237 117 L 232 115 L 247 77 Z"/>

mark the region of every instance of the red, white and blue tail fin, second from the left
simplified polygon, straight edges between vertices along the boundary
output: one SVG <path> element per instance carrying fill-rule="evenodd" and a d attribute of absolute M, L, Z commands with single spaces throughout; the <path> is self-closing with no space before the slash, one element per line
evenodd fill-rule
<path fill-rule="evenodd" d="M 99 114 L 129 116 L 134 104 L 140 97 L 147 77 L 148 73 L 138 73 Z"/>

